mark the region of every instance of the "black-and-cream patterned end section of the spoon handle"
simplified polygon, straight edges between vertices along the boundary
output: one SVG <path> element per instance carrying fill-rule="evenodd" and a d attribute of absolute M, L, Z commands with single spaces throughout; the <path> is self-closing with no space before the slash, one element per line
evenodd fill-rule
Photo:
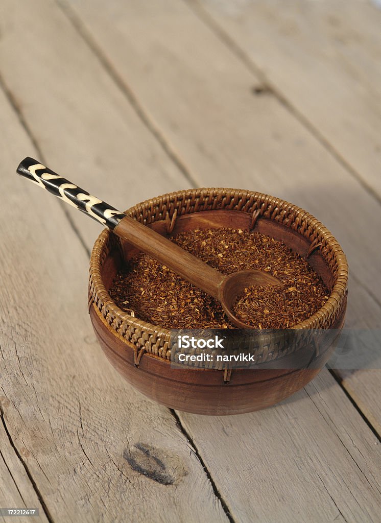
<path fill-rule="evenodd" d="M 118 209 L 95 196 L 91 196 L 84 189 L 72 184 L 71 181 L 54 173 L 53 170 L 40 164 L 37 160 L 33 160 L 33 158 L 24 158 L 17 167 L 17 173 L 43 189 L 47 189 L 54 196 L 61 198 L 76 209 L 85 212 L 111 230 L 116 228 L 122 218 L 125 218 L 125 214 Z"/>

